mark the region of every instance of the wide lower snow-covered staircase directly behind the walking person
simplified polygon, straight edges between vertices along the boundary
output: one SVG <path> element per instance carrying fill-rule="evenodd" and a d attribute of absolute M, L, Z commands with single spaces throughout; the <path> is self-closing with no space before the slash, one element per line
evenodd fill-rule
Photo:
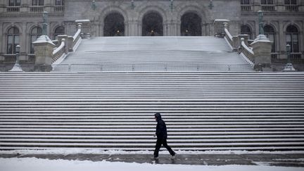
<path fill-rule="evenodd" d="M 0 73 L 0 149 L 304 150 L 304 75 Z"/>

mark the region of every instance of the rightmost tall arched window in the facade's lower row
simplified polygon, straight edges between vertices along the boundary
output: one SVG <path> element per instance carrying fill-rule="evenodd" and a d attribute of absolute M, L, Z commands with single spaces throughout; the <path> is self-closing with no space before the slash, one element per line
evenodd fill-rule
<path fill-rule="evenodd" d="M 286 28 L 286 44 L 291 45 L 291 52 L 299 52 L 298 44 L 298 28 L 294 25 L 289 25 Z"/>

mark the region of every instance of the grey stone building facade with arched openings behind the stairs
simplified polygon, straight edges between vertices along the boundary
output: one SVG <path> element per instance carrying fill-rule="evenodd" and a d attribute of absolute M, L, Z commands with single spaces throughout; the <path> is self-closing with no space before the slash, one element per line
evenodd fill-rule
<path fill-rule="evenodd" d="M 229 20 L 229 31 L 258 35 L 258 13 L 273 43 L 274 57 L 291 53 L 304 58 L 303 0 L 0 0 L 0 63 L 8 63 L 20 44 L 22 61 L 30 63 L 42 34 L 42 12 L 48 11 L 48 35 L 76 32 L 77 20 L 89 20 L 91 37 L 214 36 L 214 21 Z"/>

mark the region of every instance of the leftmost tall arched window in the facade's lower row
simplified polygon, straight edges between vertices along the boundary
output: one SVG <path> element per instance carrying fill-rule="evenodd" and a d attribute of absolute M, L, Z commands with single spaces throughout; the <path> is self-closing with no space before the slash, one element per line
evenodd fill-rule
<path fill-rule="evenodd" d="M 19 44 L 19 30 L 17 27 L 11 27 L 7 34 L 6 53 L 14 54 L 15 46 Z"/>

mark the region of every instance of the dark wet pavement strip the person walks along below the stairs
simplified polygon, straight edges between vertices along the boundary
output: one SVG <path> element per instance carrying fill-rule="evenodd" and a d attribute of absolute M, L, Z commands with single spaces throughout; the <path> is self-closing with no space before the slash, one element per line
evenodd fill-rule
<path fill-rule="evenodd" d="M 148 154 L 0 154 L 0 158 L 44 158 L 50 160 L 91 160 L 126 163 L 154 163 L 181 165 L 273 165 L 284 167 L 304 167 L 304 153 L 287 154 L 180 154 L 171 159 L 170 155 L 160 155 L 152 160 Z"/>

